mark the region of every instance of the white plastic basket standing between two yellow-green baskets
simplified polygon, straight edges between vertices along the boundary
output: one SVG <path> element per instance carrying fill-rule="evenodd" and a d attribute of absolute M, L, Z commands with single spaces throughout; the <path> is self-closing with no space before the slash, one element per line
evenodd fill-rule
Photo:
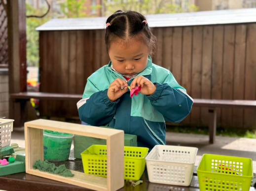
<path fill-rule="evenodd" d="M 189 186 L 197 150 L 195 147 L 154 146 L 146 157 L 149 182 Z"/>

